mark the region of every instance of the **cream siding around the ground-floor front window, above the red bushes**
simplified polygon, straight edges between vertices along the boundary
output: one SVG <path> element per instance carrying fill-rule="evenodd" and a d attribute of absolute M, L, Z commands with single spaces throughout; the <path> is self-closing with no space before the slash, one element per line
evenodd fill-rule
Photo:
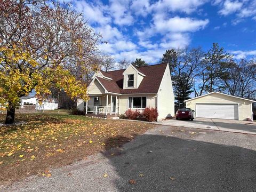
<path fill-rule="evenodd" d="M 124 114 L 125 111 L 128 109 L 129 97 L 146 97 L 146 107 L 154 107 L 154 108 L 156 107 L 157 97 L 155 94 L 122 95 L 122 96 L 120 96 L 120 114 Z M 143 109 L 139 109 L 139 110 L 140 110 L 140 112 L 143 111 Z"/>

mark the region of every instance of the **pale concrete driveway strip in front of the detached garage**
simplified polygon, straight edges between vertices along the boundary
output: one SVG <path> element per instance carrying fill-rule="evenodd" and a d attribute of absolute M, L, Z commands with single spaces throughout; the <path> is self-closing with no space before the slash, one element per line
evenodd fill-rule
<path fill-rule="evenodd" d="M 194 121 L 170 119 L 158 122 L 161 125 L 191 127 L 206 130 L 218 130 L 237 133 L 256 134 L 256 123 L 228 119 L 197 118 Z"/>

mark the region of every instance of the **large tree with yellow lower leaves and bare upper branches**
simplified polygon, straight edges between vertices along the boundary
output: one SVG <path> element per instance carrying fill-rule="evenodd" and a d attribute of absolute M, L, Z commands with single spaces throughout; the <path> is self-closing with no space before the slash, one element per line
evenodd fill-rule
<path fill-rule="evenodd" d="M 86 100 L 84 74 L 98 70 L 100 36 L 68 5 L 46 1 L 0 1 L 0 105 L 14 122 L 20 97 L 39 101 L 52 84 L 70 98 Z"/>

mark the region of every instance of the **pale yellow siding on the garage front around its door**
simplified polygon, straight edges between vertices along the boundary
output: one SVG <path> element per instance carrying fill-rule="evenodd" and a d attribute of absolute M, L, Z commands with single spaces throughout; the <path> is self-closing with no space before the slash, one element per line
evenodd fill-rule
<path fill-rule="evenodd" d="M 195 98 L 193 100 L 187 101 L 186 106 L 196 110 L 196 103 L 238 103 L 238 115 L 240 121 L 251 118 L 252 116 L 251 101 L 229 97 L 228 95 L 212 93 L 201 98 Z"/>

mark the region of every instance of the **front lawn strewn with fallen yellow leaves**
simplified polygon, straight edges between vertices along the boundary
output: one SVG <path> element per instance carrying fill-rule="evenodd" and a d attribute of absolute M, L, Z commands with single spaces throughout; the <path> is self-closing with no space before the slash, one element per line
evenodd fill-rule
<path fill-rule="evenodd" d="M 4 122 L 0 115 L 0 123 Z M 120 147 L 152 124 L 87 118 L 67 113 L 17 114 L 17 125 L 0 126 L 0 184 Z"/>

